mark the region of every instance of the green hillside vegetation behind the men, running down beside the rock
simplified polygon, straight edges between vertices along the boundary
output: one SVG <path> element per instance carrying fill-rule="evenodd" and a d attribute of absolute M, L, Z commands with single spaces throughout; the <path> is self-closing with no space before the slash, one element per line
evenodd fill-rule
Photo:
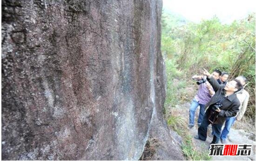
<path fill-rule="evenodd" d="M 168 126 L 183 138 L 181 148 L 187 160 L 210 160 L 208 150 L 195 149 L 186 128 L 187 118 L 173 114 L 172 109 L 175 111 L 194 97 L 196 85 L 190 79 L 192 75 L 202 74 L 202 68 L 209 72 L 219 69 L 229 72 L 229 79 L 238 75 L 248 79 L 245 88 L 250 99 L 246 116 L 255 122 L 255 16 L 251 14 L 227 25 L 217 17 L 199 24 L 185 24 L 181 17 L 162 15 L 161 50 L 167 75 L 165 118 Z"/>

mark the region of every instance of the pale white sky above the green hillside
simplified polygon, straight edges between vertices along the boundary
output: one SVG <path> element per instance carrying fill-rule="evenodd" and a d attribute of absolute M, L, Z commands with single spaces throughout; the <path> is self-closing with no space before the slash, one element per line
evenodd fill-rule
<path fill-rule="evenodd" d="M 195 23 L 216 15 L 222 23 L 229 24 L 256 12 L 256 0 L 163 0 L 163 9 Z"/>

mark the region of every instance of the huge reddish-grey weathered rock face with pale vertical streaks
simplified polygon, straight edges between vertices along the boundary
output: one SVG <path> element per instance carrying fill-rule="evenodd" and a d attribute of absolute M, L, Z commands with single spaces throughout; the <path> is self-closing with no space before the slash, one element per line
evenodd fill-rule
<path fill-rule="evenodd" d="M 3 0 L 2 159 L 137 160 L 158 128 L 173 145 L 161 12 L 161 0 Z"/>

